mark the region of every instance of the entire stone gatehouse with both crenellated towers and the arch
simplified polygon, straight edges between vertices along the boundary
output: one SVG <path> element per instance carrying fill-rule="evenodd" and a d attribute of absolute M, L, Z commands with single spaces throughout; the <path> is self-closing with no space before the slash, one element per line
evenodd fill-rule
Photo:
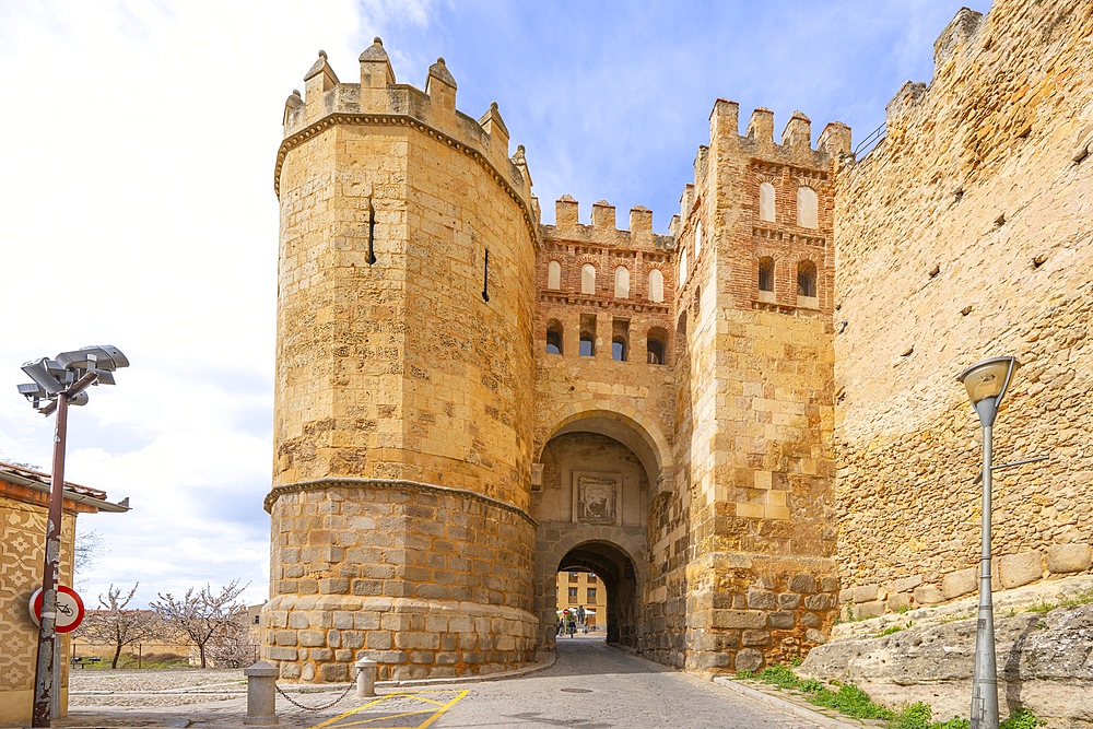
<path fill-rule="evenodd" d="M 740 137 L 718 101 L 670 235 L 640 207 L 618 227 L 604 201 L 583 224 L 568 197 L 549 225 L 497 105 L 457 111 L 443 59 L 423 90 L 396 83 L 377 39 L 357 78 L 319 55 L 274 165 L 262 657 L 316 682 L 362 654 L 381 679 L 526 666 L 553 646 L 567 568 L 607 583 L 612 640 L 671 666 L 753 670 L 822 642 L 828 152 L 848 130 L 776 145 L 768 111 Z M 777 187 L 762 226 L 757 180 Z M 808 236 L 786 209 L 800 185 L 821 196 Z M 815 296 L 781 273 L 761 295 L 763 257 L 814 262 Z"/>

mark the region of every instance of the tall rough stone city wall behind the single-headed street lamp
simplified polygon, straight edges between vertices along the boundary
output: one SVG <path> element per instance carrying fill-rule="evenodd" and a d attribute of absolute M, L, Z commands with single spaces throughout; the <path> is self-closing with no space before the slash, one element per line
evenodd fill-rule
<path fill-rule="evenodd" d="M 979 424 L 956 376 L 1016 355 L 995 424 L 996 587 L 1088 571 L 1093 5 L 961 11 L 935 78 L 835 196 L 838 564 L 868 616 L 976 589 Z M 853 603 L 853 607 L 849 607 Z"/>

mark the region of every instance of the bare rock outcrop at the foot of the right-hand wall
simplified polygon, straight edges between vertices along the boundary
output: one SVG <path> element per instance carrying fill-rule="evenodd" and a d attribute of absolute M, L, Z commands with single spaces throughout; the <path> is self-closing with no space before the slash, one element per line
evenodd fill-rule
<path fill-rule="evenodd" d="M 1093 604 L 996 614 L 1002 717 L 1025 707 L 1050 727 L 1093 727 Z M 973 616 L 837 640 L 814 648 L 799 672 L 821 681 L 851 681 L 891 706 L 926 702 L 936 719 L 966 716 L 975 630 Z"/>

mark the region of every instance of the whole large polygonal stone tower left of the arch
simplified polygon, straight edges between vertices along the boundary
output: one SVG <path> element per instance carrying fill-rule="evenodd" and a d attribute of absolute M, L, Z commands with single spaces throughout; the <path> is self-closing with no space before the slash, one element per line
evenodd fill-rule
<path fill-rule="evenodd" d="M 537 214 L 496 105 L 456 110 L 383 44 L 326 55 L 285 104 L 271 600 L 281 678 L 504 670 L 533 659 Z"/>

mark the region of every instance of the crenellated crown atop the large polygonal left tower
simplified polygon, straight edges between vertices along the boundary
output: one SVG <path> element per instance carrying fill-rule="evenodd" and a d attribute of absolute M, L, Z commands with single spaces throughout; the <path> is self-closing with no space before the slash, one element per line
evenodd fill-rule
<path fill-rule="evenodd" d="M 281 164 L 289 150 L 330 125 L 410 126 L 480 161 L 521 201 L 529 220 L 538 223 L 530 204 L 531 176 L 524 148 L 509 157 L 508 128 L 496 102 L 479 119 L 459 111 L 456 80 L 443 58 L 428 67 L 424 91 L 396 83 L 390 58 L 378 37 L 359 61 L 360 81 L 343 83 L 320 50 L 304 75 L 303 95 L 294 90 L 285 99 L 284 141 L 278 153 L 274 188 L 279 189 Z"/>

